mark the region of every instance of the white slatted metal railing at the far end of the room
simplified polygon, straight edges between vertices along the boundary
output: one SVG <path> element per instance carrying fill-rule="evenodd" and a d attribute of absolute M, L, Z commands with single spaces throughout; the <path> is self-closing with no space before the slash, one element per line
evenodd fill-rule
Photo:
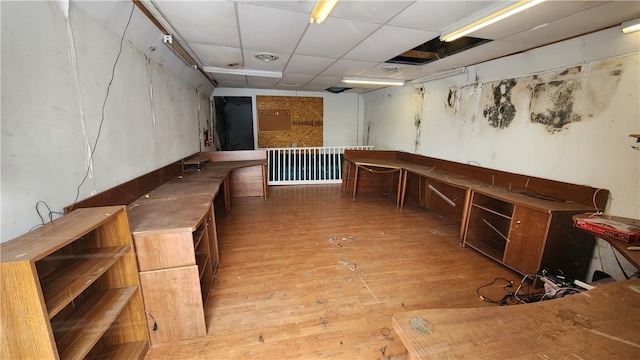
<path fill-rule="evenodd" d="M 372 149 L 371 145 L 266 149 L 268 184 L 340 183 L 344 151 Z"/>

